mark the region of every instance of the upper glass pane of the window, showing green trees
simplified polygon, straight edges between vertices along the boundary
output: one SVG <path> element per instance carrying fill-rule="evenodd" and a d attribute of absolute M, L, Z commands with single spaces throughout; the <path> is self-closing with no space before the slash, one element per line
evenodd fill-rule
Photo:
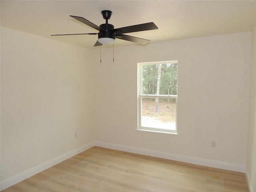
<path fill-rule="evenodd" d="M 141 66 L 141 93 L 177 95 L 177 63 Z"/>

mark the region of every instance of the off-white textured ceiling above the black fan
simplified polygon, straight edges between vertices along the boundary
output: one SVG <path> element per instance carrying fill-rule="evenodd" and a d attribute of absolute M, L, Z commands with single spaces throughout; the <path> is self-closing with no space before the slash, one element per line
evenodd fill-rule
<path fill-rule="evenodd" d="M 154 22 L 158 30 L 128 35 L 159 42 L 248 32 L 256 19 L 255 0 L 1 0 L 1 26 L 61 42 L 93 48 L 96 35 L 50 36 L 98 32 L 70 15 L 100 25 L 111 10 L 115 28 Z M 115 46 L 135 44 L 116 39 Z"/>

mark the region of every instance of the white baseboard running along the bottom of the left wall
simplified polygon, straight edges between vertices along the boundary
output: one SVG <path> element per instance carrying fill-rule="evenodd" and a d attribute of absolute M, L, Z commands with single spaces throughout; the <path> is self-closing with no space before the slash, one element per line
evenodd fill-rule
<path fill-rule="evenodd" d="M 72 150 L 64 155 L 61 155 L 57 158 L 54 158 L 53 160 L 50 160 L 46 163 L 43 163 L 39 166 L 36 166 L 34 168 L 31 168 L 30 170 L 27 170 L 21 174 L 18 174 L 12 178 L 9 178 L 7 180 L 4 180 L 0 183 L 0 191 L 10 187 L 10 186 L 13 186 L 14 184 L 17 184 L 18 182 L 21 182 L 35 174 L 38 174 L 39 172 L 42 172 L 43 170 L 46 170 L 64 160 L 67 160 L 68 158 L 71 158 L 72 156 L 75 156 L 91 147 L 95 146 L 94 142 L 90 142 L 84 146 L 81 146 L 75 150 Z"/>

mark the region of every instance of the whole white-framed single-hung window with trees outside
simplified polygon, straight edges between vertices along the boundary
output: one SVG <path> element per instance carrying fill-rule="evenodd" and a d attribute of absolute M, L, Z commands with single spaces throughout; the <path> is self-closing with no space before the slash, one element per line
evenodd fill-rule
<path fill-rule="evenodd" d="M 178 61 L 138 63 L 138 130 L 177 133 Z"/>

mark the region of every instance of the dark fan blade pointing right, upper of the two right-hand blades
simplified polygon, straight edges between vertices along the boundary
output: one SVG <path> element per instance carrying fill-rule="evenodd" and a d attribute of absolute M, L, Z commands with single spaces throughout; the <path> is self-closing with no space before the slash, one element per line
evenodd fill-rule
<path fill-rule="evenodd" d="M 138 31 L 147 31 L 147 30 L 153 30 L 158 29 L 158 27 L 153 23 L 144 23 L 144 24 L 138 24 L 133 26 L 127 26 L 127 27 L 121 27 L 112 30 L 112 32 L 116 34 L 123 34 L 123 33 L 131 33 L 131 32 L 138 32 Z"/>

